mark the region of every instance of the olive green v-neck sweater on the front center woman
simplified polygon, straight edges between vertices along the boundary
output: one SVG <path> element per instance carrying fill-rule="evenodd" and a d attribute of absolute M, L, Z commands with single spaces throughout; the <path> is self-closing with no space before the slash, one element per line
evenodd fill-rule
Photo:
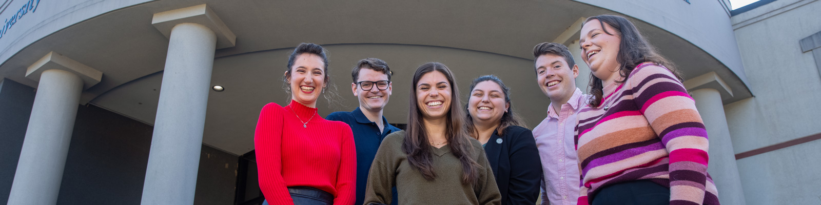
<path fill-rule="evenodd" d="M 459 159 L 451 153 L 450 146 L 431 147 L 433 153 L 433 170 L 436 179 L 425 180 L 402 152 L 404 130 L 388 134 L 379 145 L 374 164 L 370 167 L 368 185 L 365 190 L 365 205 L 390 203 L 391 188 L 397 187 L 399 204 L 501 204 L 502 195 L 493 179 L 493 170 L 484 148 L 476 139 L 470 139 L 473 145 L 473 160 L 479 163 L 479 179 L 476 185 L 464 185 L 462 166 Z"/>

